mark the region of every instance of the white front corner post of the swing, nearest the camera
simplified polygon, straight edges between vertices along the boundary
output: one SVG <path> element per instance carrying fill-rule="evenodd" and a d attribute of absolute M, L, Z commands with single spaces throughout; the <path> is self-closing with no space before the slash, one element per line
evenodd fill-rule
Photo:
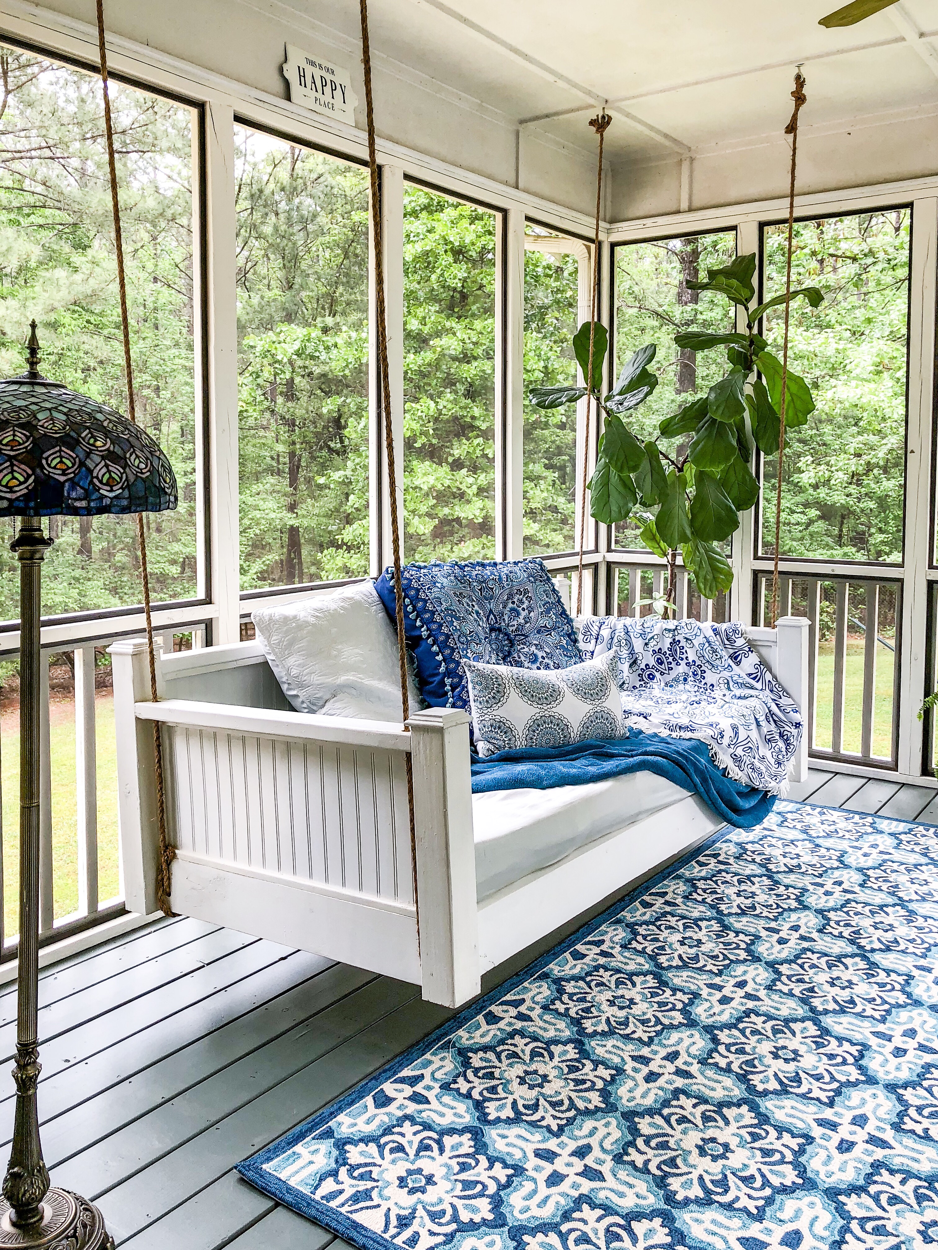
<path fill-rule="evenodd" d="M 423 996 L 459 1006 L 480 986 L 469 718 L 458 709 L 429 708 L 408 726 Z"/>

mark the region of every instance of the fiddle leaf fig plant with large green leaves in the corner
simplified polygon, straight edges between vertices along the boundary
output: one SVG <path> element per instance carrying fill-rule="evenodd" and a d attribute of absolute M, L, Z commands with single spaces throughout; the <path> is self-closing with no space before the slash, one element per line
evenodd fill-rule
<path fill-rule="evenodd" d="M 704 599 L 729 590 L 733 570 L 719 544 L 739 528 L 742 512 L 759 495 L 749 462 L 753 439 L 764 456 L 778 455 L 782 361 L 755 330 L 768 309 L 785 302 L 784 294 L 750 308 L 755 298 L 755 254 L 737 256 L 729 265 L 709 269 L 707 279 L 688 281 L 697 291 L 714 291 L 745 314 L 745 330 L 710 334 L 683 330 L 674 336 L 680 349 L 710 351 L 725 348 L 728 371 L 705 395 L 684 404 L 658 426 L 653 440 L 642 441 L 628 426 L 628 414 L 643 404 L 658 385 L 648 368 L 655 356 L 653 342 L 639 348 L 627 361 L 615 386 L 602 395 L 603 362 L 609 346 L 605 326 L 594 330 L 592 396 L 603 412 L 597 466 L 589 481 L 590 515 L 603 525 L 620 525 L 629 516 L 639 526 L 642 541 L 668 561 L 668 590 L 662 611 L 673 611 L 677 591 L 677 556 L 697 582 Z M 817 286 L 792 291 L 817 308 L 824 299 Z M 573 338 L 573 350 L 583 378 L 589 370 L 590 324 L 584 321 Z M 575 402 L 587 386 L 535 386 L 530 401 L 553 409 Z M 808 384 L 788 370 L 785 426 L 804 425 L 814 411 Z"/>

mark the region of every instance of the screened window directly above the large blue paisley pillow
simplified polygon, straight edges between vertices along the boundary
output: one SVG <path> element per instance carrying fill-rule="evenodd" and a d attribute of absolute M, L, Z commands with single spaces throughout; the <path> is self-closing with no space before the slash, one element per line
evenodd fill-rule
<path fill-rule="evenodd" d="M 404 188 L 404 545 L 495 555 L 499 214 Z"/>

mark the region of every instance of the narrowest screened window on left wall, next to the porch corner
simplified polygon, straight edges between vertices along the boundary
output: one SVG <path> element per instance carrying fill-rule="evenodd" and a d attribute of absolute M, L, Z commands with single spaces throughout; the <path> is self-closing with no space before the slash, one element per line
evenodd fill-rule
<path fill-rule="evenodd" d="M 528 224 L 524 238 L 524 554 L 577 545 L 577 414 L 528 402 L 532 386 L 577 385 L 573 335 L 589 319 L 589 251 Z M 585 308 L 583 306 L 585 301 Z"/>

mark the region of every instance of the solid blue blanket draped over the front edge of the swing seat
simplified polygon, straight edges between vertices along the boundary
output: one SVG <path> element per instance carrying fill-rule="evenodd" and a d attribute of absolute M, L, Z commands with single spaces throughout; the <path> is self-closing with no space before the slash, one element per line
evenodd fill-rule
<path fill-rule="evenodd" d="M 705 742 L 663 738 L 630 729 L 613 741 L 574 742 L 539 750 L 500 751 L 482 760 L 473 756 L 473 794 L 488 790 L 549 790 L 559 785 L 587 785 L 644 769 L 695 791 L 722 819 L 737 829 L 752 829 L 768 816 L 775 796 L 728 778 L 710 759 Z"/>

